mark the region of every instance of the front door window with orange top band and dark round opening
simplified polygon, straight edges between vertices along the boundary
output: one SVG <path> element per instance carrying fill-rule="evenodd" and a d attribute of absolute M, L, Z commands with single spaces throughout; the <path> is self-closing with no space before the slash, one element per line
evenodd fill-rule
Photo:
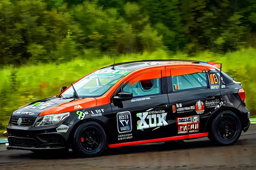
<path fill-rule="evenodd" d="M 134 97 L 161 94 L 161 77 L 161 70 L 140 74 L 123 87 L 123 92 L 133 93 Z"/>

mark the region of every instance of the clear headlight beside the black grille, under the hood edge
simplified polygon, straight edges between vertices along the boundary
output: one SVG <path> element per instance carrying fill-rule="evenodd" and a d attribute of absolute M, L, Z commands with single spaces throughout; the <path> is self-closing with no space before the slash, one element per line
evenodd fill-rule
<path fill-rule="evenodd" d="M 69 117 L 70 113 L 50 114 L 45 116 L 39 116 L 35 121 L 35 126 L 47 126 L 51 124 L 57 124 Z"/>

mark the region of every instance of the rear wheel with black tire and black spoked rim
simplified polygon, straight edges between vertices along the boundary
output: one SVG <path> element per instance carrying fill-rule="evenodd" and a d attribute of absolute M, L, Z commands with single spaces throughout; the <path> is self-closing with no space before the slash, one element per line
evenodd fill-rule
<path fill-rule="evenodd" d="M 208 138 L 221 145 L 232 145 L 241 133 L 242 127 L 238 116 L 231 111 L 223 111 L 214 118 Z"/>

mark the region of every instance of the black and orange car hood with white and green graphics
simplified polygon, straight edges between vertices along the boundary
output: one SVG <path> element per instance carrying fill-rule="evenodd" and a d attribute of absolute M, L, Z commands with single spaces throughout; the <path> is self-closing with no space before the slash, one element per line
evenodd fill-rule
<path fill-rule="evenodd" d="M 19 108 L 18 110 L 14 111 L 12 115 L 37 117 L 40 113 L 42 113 L 41 115 L 47 115 L 47 114 L 71 112 L 71 111 L 74 111 L 75 108 L 78 108 L 78 109 L 85 108 L 85 105 L 87 102 L 90 102 L 90 107 L 91 106 L 93 107 L 94 105 L 96 106 L 95 98 L 85 98 L 85 99 L 75 100 L 74 98 L 64 99 L 64 98 L 59 98 L 54 96 L 54 97 L 38 100 L 30 104 L 27 104 Z M 91 102 L 93 102 L 93 105 L 91 104 Z M 78 107 L 78 105 L 80 107 Z"/>

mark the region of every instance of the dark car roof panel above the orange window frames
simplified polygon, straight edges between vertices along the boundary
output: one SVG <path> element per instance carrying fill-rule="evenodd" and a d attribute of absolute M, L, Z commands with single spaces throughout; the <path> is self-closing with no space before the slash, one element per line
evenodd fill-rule
<path fill-rule="evenodd" d="M 107 67 L 113 67 L 116 70 L 127 70 L 133 71 L 139 68 L 148 67 L 148 66 L 161 66 L 161 65 L 176 65 L 176 64 L 208 64 L 206 61 L 197 61 L 197 60 L 139 60 L 133 62 L 117 63 L 115 65 L 110 65 Z"/>

